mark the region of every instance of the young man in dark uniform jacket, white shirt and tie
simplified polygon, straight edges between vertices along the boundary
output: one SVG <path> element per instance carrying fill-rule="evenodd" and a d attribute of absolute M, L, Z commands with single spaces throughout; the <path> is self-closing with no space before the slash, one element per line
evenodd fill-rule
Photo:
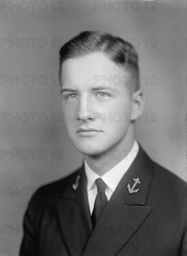
<path fill-rule="evenodd" d="M 144 108 L 135 49 L 84 32 L 61 48 L 60 74 L 65 124 L 84 164 L 32 197 L 20 256 L 186 255 L 186 183 L 135 140 Z"/>

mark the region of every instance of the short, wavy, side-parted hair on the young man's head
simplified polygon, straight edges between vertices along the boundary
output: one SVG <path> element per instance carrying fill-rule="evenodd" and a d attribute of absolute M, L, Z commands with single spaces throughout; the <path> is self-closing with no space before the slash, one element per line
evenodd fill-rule
<path fill-rule="evenodd" d="M 67 59 L 74 59 L 82 55 L 101 52 L 118 66 L 124 66 L 129 72 L 130 91 L 140 88 L 138 55 L 135 48 L 122 38 L 114 37 L 103 31 L 84 31 L 69 40 L 60 49 L 60 71 Z M 129 87 L 129 86 L 128 86 Z"/>

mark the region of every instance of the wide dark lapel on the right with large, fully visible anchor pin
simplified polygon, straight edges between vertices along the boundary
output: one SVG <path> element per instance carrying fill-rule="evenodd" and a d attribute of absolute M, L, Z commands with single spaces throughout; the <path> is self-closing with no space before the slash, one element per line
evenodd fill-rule
<path fill-rule="evenodd" d="M 146 206 L 154 163 L 140 147 L 91 233 L 83 256 L 115 256 L 139 229 L 152 208 Z M 135 184 L 138 178 L 141 183 Z M 130 189 L 128 189 L 128 187 Z M 133 192 L 138 189 L 138 192 Z"/>

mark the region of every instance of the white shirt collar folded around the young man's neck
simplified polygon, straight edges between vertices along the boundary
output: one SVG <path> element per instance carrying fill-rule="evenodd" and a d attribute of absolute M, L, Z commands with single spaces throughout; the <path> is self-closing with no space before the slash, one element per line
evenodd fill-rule
<path fill-rule="evenodd" d="M 102 176 L 96 174 L 87 164 L 86 160 L 84 160 L 84 169 L 87 177 L 87 191 L 93 188 L 95 180 L 98 178 L 102 178 L 103 182 L 106 183 L 108 188 L 114 189 L 117 187 L 118 183 L 122 179 L 123 175 L 129 169 L 130 165 L 133 163 L 136 155 L 138 154 L 139 145 L 137 141 L 134 141 L 133 147 L 128 152 L 124 153 L 124 157 L 122 161 L 117 163 L 113 168 L 111 168 L 107 173 Z"/>

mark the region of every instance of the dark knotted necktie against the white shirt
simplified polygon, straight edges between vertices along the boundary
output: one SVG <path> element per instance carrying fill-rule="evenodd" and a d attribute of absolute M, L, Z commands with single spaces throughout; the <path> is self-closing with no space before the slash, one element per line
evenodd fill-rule
<path fill-rule="evenodd" d="M 91 215 L 91 221 L 92 221 L 93 227 L 96 225 L 96 222 L 99 216 L 101 215 L 105 205 L 108 202 L 107 196 L 105 195 L 106 184 L 103 182 L 101 178 L 99 178 L 96 180 L 96 185 L 97 185 L 97 196 L 94 203 L 93 213 Z"/>

